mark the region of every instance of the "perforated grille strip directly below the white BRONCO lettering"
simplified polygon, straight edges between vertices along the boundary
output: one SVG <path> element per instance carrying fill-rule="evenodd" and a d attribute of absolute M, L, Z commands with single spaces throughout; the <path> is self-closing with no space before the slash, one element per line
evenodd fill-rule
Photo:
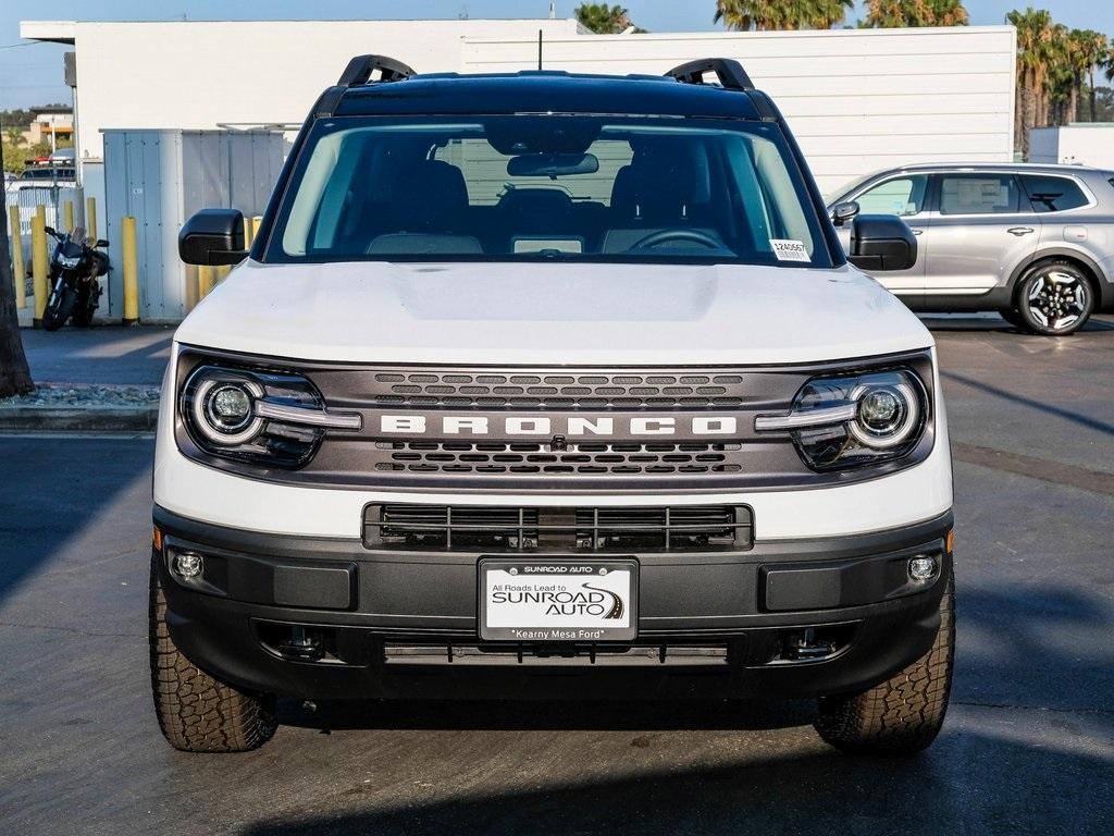
<path fill-rule="evenodd" d="M 380 472 L 624 476 L 731 474 L 741 444 L 577 444 L 555 450 L 541 444 L 378 441 Z"/>

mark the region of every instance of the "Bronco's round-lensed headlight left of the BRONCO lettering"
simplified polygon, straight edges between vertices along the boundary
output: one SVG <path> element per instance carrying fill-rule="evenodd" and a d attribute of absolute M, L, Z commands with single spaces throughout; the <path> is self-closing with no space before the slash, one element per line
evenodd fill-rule
<path fill-rule="evenodd" d="M 301 375 L 202 366 L 186 379 L 178 406 L 190 440 L 219 458 L 300 467 L 328 429 L 359 429 L 358 414 L 325 409 Z"/>

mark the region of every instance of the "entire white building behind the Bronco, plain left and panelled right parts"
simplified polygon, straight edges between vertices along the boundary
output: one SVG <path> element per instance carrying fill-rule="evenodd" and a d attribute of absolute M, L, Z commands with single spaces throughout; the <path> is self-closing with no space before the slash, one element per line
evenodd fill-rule
<path fill-rule="evenodd" d="M 78 154 L 104 128 L 297 124 L 353 55 L 420 72 L 547 69 L 662 74 L 737 58 L 770 93 L 821 189 L 885 166 L 1013 158 L 1013 27 L 599 36 L 574 20 L 25 21 L 76 45 Z"/>

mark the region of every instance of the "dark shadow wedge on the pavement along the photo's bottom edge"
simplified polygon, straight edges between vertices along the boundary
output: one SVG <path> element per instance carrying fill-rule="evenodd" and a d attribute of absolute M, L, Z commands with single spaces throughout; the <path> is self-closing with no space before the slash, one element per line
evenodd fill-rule
<path fill-rule="evenodd" d="M 545 758 L 546 752 L 538 752 Z M 1111 761 L 990 736 L 909 759 L 742 754 L 688 766 L 379 809 L 272 819 L 242 836 L 422 834 L 1106 834 Z M 1062 781 L 1074 789 L 1057 789 Z M 367 805 L 356 784 L 334 799 Z"/>

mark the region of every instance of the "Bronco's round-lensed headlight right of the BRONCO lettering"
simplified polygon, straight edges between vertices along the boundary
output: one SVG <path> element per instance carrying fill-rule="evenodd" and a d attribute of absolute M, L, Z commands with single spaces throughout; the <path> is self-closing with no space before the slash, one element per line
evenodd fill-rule
<path fill-rule="evenodd" d="M 814 378 L 788 416 L 761 416 L 754 428 L 785 431 L 805 464 L 832 470 L 909 454 L 928 425 L 928 397 L 910 370 Z"/>

